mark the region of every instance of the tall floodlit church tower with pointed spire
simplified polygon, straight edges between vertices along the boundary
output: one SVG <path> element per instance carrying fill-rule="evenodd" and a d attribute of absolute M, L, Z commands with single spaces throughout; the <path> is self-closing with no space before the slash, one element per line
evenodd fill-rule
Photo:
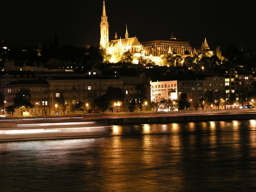
<path fill-rule="evenodd" d="M 100 46 L 108 51 L 108 17 L 106 15 L 105 1 L 100 22 Z"/>

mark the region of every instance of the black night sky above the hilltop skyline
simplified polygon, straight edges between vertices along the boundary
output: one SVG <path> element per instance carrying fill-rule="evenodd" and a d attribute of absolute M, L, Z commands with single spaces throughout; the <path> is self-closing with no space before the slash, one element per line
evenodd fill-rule
<path fill-rule="evenodd" d="M 3 1 L 0 40 L 38 44 L 54 38 L 60 45 L 97 46 L 100 42 L 102 0 Z M 209 4 L 209 2 L 213 4 Z M 129 37 L 140 42 L 177 38 L 200 47 L 206 37 L 211 49 L 235 45 L 255 50 L 255 3 L 223 1 L 117 1 L 106 0 L 109 40 Z"/>

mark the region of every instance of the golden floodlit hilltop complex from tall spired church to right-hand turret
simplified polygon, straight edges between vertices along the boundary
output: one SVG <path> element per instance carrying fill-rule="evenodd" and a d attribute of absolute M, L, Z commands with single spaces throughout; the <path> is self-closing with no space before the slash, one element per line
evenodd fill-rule
<path fill-rule="evenodd" d="M 123 52 L 129 51 L 135 57 L 146 57 L 154 61 L 156 64 L 161 64 L 161 56 L 164 54 L 178 54 L 183 57 L 201 54 L 202 52 L 208 52 L 212 55 L 212 52 L 209 50 L 209 46 L 206 42 L 202 44 L 201 50 L 192 49 L 189 42 L 177 40 L 176 37 L 172 35 L 170 40 L 155 40 L 140 43 L 138 38 L 129 37 L 126 25 L 125 38 L 118 38 L 117 34 L 114 40 L 109 41 L 108 34 L 108 17 L 106 15 L 105 1 L 103 0 L 103 12 L 100 22 L 100 46 L 106 50 L 109 54 L 122 54 Z"/>

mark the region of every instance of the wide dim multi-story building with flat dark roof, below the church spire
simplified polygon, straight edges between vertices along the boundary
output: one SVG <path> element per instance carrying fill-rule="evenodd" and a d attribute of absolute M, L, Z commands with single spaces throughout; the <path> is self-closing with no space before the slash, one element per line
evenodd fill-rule
<path fill-rule="evenodd" d="M 68 114 L 71 111 L 71 106 L 78 101 L 91 106 L 93 100 L 103 95 L 109 86 L 124 89 L 124 80 L 112 76 L 56 76 L 48 79 L 48 82 L 51 114 L 54 114 L 55 111 L 61 113 L 59 107 L 55 108 L 55 104 L 57 104 L 55 98 L 60 97 L 60 93 L 63 94 L 67 105 L 66 114 Z M 121 106 L 120 111 L 124 111 L 124 105 Z"/>

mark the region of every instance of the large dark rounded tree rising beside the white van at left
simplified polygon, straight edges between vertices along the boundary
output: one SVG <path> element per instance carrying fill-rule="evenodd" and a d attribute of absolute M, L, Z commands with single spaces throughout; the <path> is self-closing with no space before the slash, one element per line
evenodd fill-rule
<path fill-rule="evenodd" d="M 33 108 L 34 105 L 30 103 L 31 95 L 28 89 L 20 88 L 20 91 L 15 94 L 13 98 L 13 107 L 22 109 L 21 115 L 23 116 L 23 107 L 26 109 Z"/>

